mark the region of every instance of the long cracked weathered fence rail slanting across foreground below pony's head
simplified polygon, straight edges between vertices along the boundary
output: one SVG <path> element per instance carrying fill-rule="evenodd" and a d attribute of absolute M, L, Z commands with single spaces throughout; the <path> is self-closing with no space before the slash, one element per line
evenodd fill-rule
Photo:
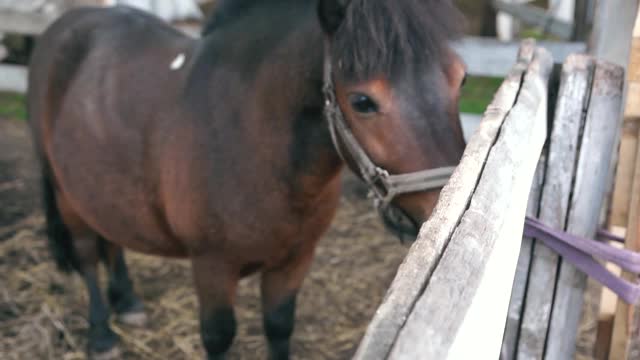
<path fill-rule="evenodd" d="M 523 44 L 355 359 L 498 358 L 551 69 Z"/>

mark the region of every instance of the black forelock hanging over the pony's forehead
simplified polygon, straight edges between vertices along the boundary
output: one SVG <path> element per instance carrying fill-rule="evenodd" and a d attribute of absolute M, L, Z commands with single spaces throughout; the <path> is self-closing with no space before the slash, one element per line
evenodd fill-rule
<path fill-rule="evenodd" d="M 334 68 L 345 78 L 445 59 L 463 17 L 450 0 L 352 0 L 334 34 Z"/>

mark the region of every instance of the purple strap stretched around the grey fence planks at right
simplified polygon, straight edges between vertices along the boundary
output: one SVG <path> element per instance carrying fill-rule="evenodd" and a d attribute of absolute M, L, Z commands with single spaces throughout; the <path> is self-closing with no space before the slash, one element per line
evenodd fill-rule
<path fill-rule="evenodd" d="M 608 233 L 603 235 L 617 240 L 617 237 L 612 234 L 611 237 Z M 628 272 L 639 274 L 639 253 L 554 230 L 530 217 L 525 220 L 524 236 L 541 240 L 563 259 L 611 289 L 625 302 L 637 304 L 640 300 L 640 285 L 614 275 L 594 259 L 597 257 L 610 261 Z"/>

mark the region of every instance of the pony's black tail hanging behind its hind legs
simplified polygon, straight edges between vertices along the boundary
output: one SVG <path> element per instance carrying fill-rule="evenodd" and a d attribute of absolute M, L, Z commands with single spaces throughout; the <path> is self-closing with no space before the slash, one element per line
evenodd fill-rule
<path fill-rule="evenodd" d="M 49 250 L 58 269 L 69 273 L 78 270 L 78 258 L 73 248 L 73 238 L 67 225 L 62 221 L 56 204 L 56 194 L 49 172 L 42 171 L 42 204 L 46 218 Z"/>

